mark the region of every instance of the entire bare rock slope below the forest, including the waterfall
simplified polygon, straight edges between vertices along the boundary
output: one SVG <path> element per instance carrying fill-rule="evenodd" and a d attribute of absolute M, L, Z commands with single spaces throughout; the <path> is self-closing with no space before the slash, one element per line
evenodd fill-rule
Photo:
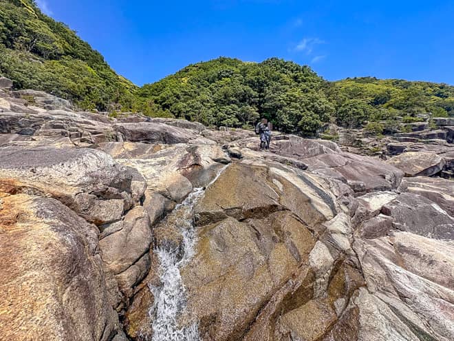
<path fill-rule="evenodd" d="M 6 340 L 454 340 L 448 153 L 40 101 L 0 102 Z"/>

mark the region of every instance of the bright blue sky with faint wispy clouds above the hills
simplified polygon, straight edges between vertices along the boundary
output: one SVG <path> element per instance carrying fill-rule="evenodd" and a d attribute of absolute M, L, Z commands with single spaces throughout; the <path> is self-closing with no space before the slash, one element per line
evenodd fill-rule
<path fill-rule="evenodd" d="M 218 56 L 454 85 L 454 1 L 38 0 L 142 85 Z"/>

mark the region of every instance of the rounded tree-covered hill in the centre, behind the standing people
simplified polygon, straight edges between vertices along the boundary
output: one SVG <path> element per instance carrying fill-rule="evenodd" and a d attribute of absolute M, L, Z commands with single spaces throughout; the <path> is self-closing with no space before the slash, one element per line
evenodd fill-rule
<path fill-rule="evenodd" d="M 138 110 L 206 125 L 250 127 L 266 117 L 285 132 L 314 134 L 334 113 L 321 77 L 307 66 L 272 58 L 244 63 L 221 57 L 189 65 L 138 91 Z"/>

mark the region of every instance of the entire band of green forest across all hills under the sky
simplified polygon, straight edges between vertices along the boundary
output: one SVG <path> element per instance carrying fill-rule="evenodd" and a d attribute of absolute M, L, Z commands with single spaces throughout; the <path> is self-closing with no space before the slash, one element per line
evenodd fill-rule
<path fill-rule="evenodd" d="M 32 0 L 0 0 L 0 74 L 17 89 L 43 90 L 85 110 L 142 112 L 206 125 L 251 127 L 266 117 L 311 136 L 326 123 L 392 130 L 420 114 L 454 116 L 454 87 L 371 77 L 328 82 L 308 66 L 220 57 L 138 88 Z M 419 115 L 419 116 L 418 116 Z"/>

